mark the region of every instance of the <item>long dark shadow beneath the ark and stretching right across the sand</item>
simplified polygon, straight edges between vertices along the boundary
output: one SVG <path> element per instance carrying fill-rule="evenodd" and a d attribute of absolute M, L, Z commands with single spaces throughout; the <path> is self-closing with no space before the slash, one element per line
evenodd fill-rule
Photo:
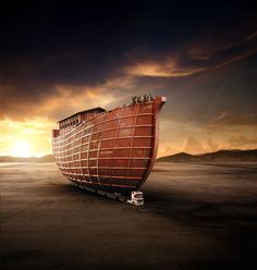
<path fill-rule="evenodd" d="M 217 201 L 201 199 L 195 196 L 185 196 L 175 191 L 158 191 L 157 188 L 144 188 L 145 205 L 132 206 L 115 201 L 111 198 L 81 189 L 70 184 L 56 185 L 62 195 L 74 196 L 79 200 L 94 200 L 102 207 L 117 207 L 130 209 L 132 212 L 149 213 L 171 219 L 182 225 L 197 228 L 242 228 L 256 221 L 257 200 Z"/>

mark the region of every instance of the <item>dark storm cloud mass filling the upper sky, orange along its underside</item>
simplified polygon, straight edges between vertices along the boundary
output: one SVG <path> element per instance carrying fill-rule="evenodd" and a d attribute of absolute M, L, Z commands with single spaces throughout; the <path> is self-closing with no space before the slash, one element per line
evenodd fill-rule
<path fill-rule="evenodd" d="M 169 1 L 12 7 L 2 44 L 2 114 L 35 113 L 60 95 L 58 86 L 79 95 L 119 77 L 126 83 L 117 87 L 132 90 L 157 77 L 161 88 L 245 59 L 257 48 L 255 11 Z"/>

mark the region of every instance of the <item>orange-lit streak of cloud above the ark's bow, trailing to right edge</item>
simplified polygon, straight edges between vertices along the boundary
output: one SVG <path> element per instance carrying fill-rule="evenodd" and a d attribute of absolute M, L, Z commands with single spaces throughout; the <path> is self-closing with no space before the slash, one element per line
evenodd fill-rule
<path fill-rule="evenodd" d="M 200 36 L 166 54 L 133 56 L 124 63 L 124 73 L 133 76 L 185 77 L 213 71 L 243 60 L 257 51 L 257 32 L 237 36 L 232 30 L 223 36 Z"/>

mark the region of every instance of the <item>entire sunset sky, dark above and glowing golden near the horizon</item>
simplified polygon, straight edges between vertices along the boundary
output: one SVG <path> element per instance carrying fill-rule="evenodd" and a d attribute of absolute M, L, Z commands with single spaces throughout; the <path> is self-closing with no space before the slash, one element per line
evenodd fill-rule
<path fill-rule="evenodd" d="M 51 154 L 58 120 L 144 93 L 168 99 L 158 156 L 257 148 L 256 4 L 86 2 L 2 11 L 0 156 Z"/>

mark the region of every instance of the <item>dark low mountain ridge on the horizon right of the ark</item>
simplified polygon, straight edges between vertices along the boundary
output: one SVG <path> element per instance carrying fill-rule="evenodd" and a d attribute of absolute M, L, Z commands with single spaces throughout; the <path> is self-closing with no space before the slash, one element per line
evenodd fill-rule
<path fill-rule="evenodd" d="M 219 150 L 201 155 L 189 155 L 180 152 L 157 159 L 157 162 L 233 162 L 233 161 L 257 161 L 257 149 L 255 150 Z"/>

